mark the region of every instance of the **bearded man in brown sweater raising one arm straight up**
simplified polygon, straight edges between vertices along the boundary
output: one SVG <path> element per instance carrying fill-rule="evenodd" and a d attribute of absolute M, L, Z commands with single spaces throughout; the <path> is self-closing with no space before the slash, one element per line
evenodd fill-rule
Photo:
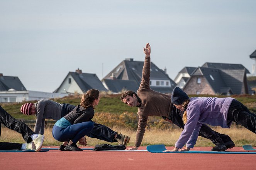
<path fill-rule="evenodd" d="M 137 90 L 137 94 L 132 91 L 122 93 L 120 99 L 130 107 L 138 107 L 137 114 L 139 115 L 138 128 L 136 133 L 136 142 L 134 147 L 128 150 L 137 150 L 141 145 L 143 135 L 147 126 L 147 117 L 159 116 L 164 120 L 174 123 L 180 128 L 184 129 L 182 122 L 183 112 L 176 109 L 171 103 L 171 95 L 159 93 L 152 90 L 149 86 L 150 81 L 150 53 L 151 48 L 149 43 L 146 44 L 144 53 L 146 54 L 144 66 L 142 69 L 142 79 Z M 227 135 L 215 132 L 207 125 L 202 125 L 200 129 L 200 136 L 210 139 L 216 146 L 212 148 L 213 151 L 227 150 L 235 146 L 234 142 Z M 186 148 L 190 150 L 190 148 Z"/>

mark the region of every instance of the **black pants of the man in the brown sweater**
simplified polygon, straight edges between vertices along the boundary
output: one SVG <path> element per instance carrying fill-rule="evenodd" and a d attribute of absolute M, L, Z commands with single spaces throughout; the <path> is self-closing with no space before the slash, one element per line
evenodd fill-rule
<path fill-rule="evenodd" d="M 184 124 L 182 121 L 182 116 L 184 112 L 178 110 L 175 106 L 172 108 L 172 112 L 169 115 L 169 119 L 178 127 L 184 129 Z M 228 135 L 221 134 L 212 130 L 209 126 L 203 124 L 200 128 L 199 135 L 201 137 L 207 138 L 212 141 L 215 145 L 217 144 L 224 144 L 226 142 L 231 141 L 231 138 Z"/>

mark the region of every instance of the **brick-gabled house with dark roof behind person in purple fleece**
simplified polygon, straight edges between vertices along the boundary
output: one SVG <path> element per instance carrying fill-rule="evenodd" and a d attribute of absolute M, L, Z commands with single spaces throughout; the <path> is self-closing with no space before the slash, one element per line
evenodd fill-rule
<path fill-rule="evenodd" d="M 209 63 L 203 66 L 209 66 Z M 246 73 L 249 71 L 238 65 L 233 66 L 215 63 L 214 67 L 196 68 L 183 87 L 184 92 L 209 95 L 248 94 L 250 88 Z"/>

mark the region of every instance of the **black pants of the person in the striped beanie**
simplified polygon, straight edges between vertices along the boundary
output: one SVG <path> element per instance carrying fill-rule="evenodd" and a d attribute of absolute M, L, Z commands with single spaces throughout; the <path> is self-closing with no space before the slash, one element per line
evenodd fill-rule
<path fill-rule="evenodd" d="M 74 106 L 74 105 L 63 103 L 61 117 L 68 114 L 69 112 L 71 112 L 75 107 L 76 106 Z M 91 122 L 93 123 L 93 129 L 90 133 L 87 134 L 88 137 L 105 140 L 107 142 L 117 142 L 114 139 L 115 134 L 117 134 L 117 132 L 113 131 L 109 127 L 106 127 L 105 125 L 95 123 L 93 121 L 91 121 Z"/>

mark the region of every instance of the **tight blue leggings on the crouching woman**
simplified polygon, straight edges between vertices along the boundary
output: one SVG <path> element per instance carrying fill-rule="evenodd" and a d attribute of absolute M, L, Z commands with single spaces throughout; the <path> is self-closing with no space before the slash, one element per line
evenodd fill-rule
<path fill-rule="evenodd" d="M 60 142 L 69 142 L 72 140 L 73 143 L 78 142 L 82 137 L 87 135 L 93 129 L 92 122 L 82 122 L 74 125 L 70 125 L 66 128 L 53 126 L 53 137 Z"/>

